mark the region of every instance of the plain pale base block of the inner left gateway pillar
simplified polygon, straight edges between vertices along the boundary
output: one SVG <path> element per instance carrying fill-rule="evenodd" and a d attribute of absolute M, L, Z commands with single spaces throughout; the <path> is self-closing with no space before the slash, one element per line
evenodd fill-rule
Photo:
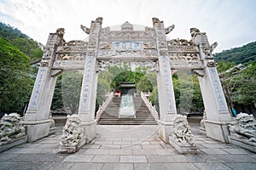
<path fill-rule="evenodd" d="M 86 136 L 86 144 L 88 144 L 92 139 L 96 138 L 96 120 L 92 122 L 82 122 L 82 127 L 84 128 L 84 136 Z"/>

